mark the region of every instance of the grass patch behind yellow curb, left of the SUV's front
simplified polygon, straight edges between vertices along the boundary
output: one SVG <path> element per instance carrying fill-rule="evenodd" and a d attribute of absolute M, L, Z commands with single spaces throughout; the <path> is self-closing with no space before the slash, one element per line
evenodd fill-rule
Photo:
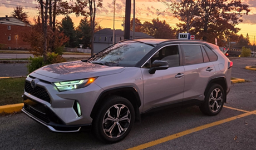
<path fill-rule="evenodd" d="M 26 77 L 0 79 L 0 106 L 22 103 Z"/>

